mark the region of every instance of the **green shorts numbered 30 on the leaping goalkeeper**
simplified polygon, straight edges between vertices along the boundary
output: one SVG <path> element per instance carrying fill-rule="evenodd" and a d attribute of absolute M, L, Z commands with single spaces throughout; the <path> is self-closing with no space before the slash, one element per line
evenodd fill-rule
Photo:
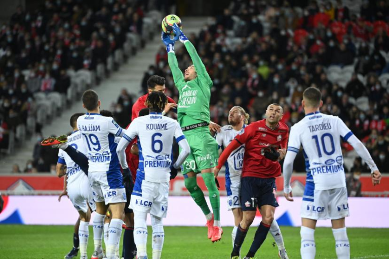
<path fill-rule="evenodd" d="M 216 140 L 207 131 L 199 129 L 184 132 L 189 143 L 190 154 L 181 165 L 183 175 L 193 171 L 198 174 L 201 170 L 213 168 L 217 165 L 219 151 Z M 180 150 L 181 152 L 181 150 Z"/>

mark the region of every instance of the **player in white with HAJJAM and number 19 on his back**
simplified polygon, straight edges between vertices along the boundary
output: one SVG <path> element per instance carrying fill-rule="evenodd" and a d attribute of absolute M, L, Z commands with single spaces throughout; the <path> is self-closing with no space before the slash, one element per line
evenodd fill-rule
<path fill-rule="evenodd" d="M 87 113 L 77 119 L 77 126 L 84 136 L 89 159 L 88 178 L 92 185 L 96 214 L 93 218 L 95 251 L 92 259 L 101 259 L 103 252 L 101 240 L 104 218 L 108 205 L 112 212 L 108 229 L 106 257 L 114 258 L 115 247 L 122 234 L 126 191 L 123 186 L 122 172 L 116 154 L 115 137 L 123 135 L 123 129 L 111 118 L 100 114 L 100 100 L 93 90 L 84 92 L 83 107 Z M 129 174 L 124 171 L 124 175 Z"/>

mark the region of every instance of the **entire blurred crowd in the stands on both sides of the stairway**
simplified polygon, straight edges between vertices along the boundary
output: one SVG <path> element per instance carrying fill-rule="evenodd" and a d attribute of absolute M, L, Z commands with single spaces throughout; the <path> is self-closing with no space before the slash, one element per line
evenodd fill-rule
<path fill-rule="evenodd" d="M 292 126 L 304 116 L 303 91 L 315 86 L 323 94 L 322 112 L 342 118 L 380 170 L 389 172 L 387 1 L 302 2 L 230 1 L 222 13 L 204 20 L 199 34 L 186 33 L 213 79 L 212 121 L 228 124 L 227 114 L 234 105 L 245 108 L 250 122 L 256 121 L 263 118 L 268 104 L 276 102 L 284 107 L 283 121 Z M 28 114 L 36 112 L 36 93 L 68 94 L 69 71 L 96 71 L 99 64 L 107 68 L 110 54 L 126 49 L 128 33 L 144 34 L 144 1 L 112 0 L 95 9 L 76 0 L 45 3 L 33 13 L 18 9 L 0 31 L 3 149 L 9 136 L 4 133 L 17 133 L 17 125 L 28 124 Z M 140 39 L 139 46 L 143 45 Z M 179 45 L 176 56 L 184 70 L 191 61 Z M 178 102 L 162 44 L 140 82 L 141 94 L 147 92 L 146 81 L 153 74 L 166 78 L 166 94 Z M 39 78 L 39 87 L 31 90 L 28 78 Z M 124 89 L 112 104 L 122 127 L 130 122 L 134 98 Z M 39 132 L 40 123 L 34 125 Z M 368 172 L 349 145 L 343 143 L 342 148 L 347 171 Z M 47 158 L 50 154 L 45 152 L 36 145 L 31 161 L 25 168 L 15 165 L 14 171 L 55 170 L 51 165 L 56 157 Z M 303 160 L 302 155 L 298 159 Z M 303 162 L 295 162 L 294 169 L 305 171 Z"/>

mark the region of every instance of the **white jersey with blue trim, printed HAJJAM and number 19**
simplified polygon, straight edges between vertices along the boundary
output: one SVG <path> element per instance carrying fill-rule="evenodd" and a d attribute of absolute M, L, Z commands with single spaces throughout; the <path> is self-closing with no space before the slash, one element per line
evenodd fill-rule
<path fill-rule="evenodd" d="M 115 137 L 122 136 L 123 129 L 118 123 L 112 117 L 87 113 L 77 119 L 77 126 L 86 142 L 89 172 L 120 170 Z"/>

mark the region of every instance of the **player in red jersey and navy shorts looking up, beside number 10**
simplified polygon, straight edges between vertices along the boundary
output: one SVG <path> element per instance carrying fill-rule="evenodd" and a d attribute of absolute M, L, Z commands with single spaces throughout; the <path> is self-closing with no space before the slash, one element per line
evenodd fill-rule
<path fill-rule="evenodd" d="M 241 204 L 243 220 L 238 226 L 231 253 L 232 259 L 240 258 L 240 249 L 250 225 L 253 223 L 257 207 L 262 212 L 262 222 L 255 232 L 254 241 L 245 259 L 254 258 L 256 251 L 266 238 L 274 220 L 276 200 L 276 177 L 281 176 L 279 161 L 285 157 L 288 146 L 288 126 L 280 122 L 283 108 L 270 104 L 266 118 L 251 123 L 221 153 L 215 177 L 232 151 L 246 144 L 243 158 Z"/>

